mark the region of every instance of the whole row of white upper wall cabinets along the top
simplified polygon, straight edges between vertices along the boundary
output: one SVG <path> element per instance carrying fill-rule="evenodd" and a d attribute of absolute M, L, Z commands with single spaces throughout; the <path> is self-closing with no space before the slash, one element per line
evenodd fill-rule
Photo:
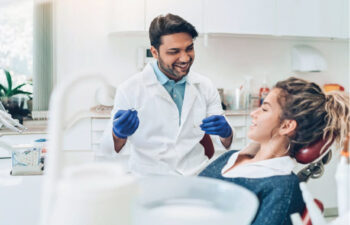
<path fill-rule="evenodd" d="M 111 0 L 111 32 L 146 34 L 160 14 L 199 33 L 349 37 L 349 0 Z"/>

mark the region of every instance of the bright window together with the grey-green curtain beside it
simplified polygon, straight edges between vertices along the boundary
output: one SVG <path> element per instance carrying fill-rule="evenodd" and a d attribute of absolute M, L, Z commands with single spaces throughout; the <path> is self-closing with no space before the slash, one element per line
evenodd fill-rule
<path fill-rule="evenodd" d="M 48 110 L 52 49 L 52 0 L 0 0 L 0 67 L 13 72 L 13 86 L 33 80 L 21 88 L 33 93 L 33 118 Z M 7 85 L 1 72 L 0 83 Z"/>

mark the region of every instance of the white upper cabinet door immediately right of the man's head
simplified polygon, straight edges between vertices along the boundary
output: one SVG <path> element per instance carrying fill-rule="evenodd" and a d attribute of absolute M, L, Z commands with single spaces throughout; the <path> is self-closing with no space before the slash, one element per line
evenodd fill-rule
<path fill-rule="evenodd" d="M 208 33 L 275 34 L 275 0 L 205 0 Z"/>

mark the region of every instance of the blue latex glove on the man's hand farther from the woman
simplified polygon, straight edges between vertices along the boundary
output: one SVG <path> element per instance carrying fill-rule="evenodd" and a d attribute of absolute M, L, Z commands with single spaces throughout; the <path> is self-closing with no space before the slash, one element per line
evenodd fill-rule
<path fill-rule="evenodd" d="M 119 138 L 126 139 L 139 127 L 136 110 L 119 110 L 113 118 L 113 133 Z"/>

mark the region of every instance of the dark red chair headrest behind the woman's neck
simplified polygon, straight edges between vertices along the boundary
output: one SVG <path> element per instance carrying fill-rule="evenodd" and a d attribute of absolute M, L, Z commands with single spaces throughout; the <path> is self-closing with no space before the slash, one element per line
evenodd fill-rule
<path fill-rule="evenodd" d="M 297 162 L 301 164 L 308 164 L 308 163 L 314 162 L 315 160 L 319 159 L 321 156 L 325 155 L 329 151 L 329 147 L 331 146 L 333 141 L 331 141 L 327 145 L 326 145 L 326 142 L 327 142 L 327 139 L 321 138 L 320 140 L 315 141 L 309 146 L 300 149 L 295 154 L 295 159 L 297 160 Z M 324 151 L 321 152 L 321 150 L 323 149 L 323 146 L 325 146 L 325 148 L 324 148 Z"/>

